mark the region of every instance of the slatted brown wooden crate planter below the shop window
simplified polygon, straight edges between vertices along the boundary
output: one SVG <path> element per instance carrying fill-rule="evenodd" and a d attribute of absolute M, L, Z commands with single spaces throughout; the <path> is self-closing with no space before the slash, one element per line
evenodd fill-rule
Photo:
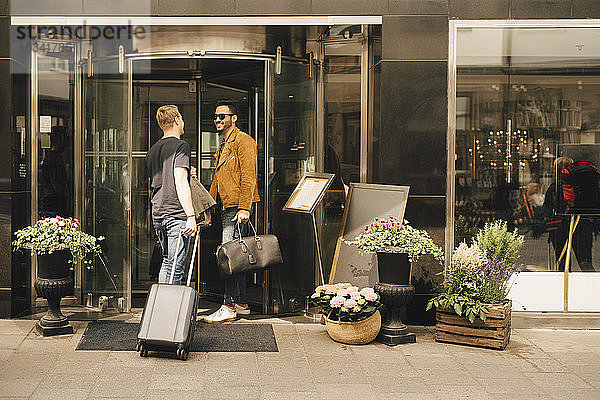
<path fill-rule="evenodd" d="M 435 340 L 503 350 L 510 340 L 512 302 L 492 304 L 486 321 L 476 318 L 470 323 L 454 311 L 439 308 L 436 311 Z"/>

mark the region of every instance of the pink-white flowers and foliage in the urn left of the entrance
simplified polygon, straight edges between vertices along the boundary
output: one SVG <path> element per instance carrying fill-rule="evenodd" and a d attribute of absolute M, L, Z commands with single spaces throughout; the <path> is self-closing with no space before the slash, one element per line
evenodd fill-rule
<path fill-rule="evenodd" d="M 92 263 L 89 256 L 102 252 L 98 242 L 104 240 L 102 236 L 96 238 L 82 232 L 76 218 L 59 216 L 39 220 L 33 226 L 18 230 L 15 236 L 14 250 L 30 249 L 37 255 L 43 255 L 67 249 L 73 255 L 71 262 L 82 260 L 88 269 Z"/>

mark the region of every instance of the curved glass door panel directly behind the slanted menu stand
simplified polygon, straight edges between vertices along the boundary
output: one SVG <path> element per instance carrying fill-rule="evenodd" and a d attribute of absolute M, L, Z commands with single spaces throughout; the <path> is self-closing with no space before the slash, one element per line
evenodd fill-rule
<path fill-rule="evenodd" d="M 279 238 L 284 265 L 271 273 L 274 313 L 295 312 L 315 286 L 315 239 L 306 215 L 281 209 L 305 172 L 316 162 L 316 71 L 307 63 L 284 61 L 273 76 L 273 129 L 269 132 L 269 231 Z M 314 68 L 314 67 L 313 67 Z"/>

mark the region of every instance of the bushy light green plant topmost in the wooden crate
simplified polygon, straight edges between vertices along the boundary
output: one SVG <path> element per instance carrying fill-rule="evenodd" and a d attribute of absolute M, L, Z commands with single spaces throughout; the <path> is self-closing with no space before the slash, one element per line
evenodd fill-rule
<path fill-rule="evenodd" d="M 517 229 L 509 232 L 503 220 L 486 223 L 475 237 L 475 243 L 488 260 L 502 260 L 506 265 L 516 264 L 524 240 Z"/>

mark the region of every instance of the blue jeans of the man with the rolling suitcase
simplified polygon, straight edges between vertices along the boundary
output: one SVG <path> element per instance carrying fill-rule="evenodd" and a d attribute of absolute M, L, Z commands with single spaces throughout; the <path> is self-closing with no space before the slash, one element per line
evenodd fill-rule
<path fill-rule="evenodd" d="M 154 221 L 154 229 L 156 230 L 156 236 L 160 242 L 160 246 L 163 249 L 163 261 L 158 273 L 158 283 L 169 283 L 171 279 L 171 269 L 173 267 L 173 260 L 175 259 L 175 250 L 177 248 L 177 240 L 180 232 L 185 229 L 185 222 L 181 219 L 165 218 L 161 221 Z M 177 262 L 175 263 L 175 274 L 173 276 L 173 283 L 175 285 L 181 284 L 181 277 L 183 276 L 183 269 L 185 263 L 185 257 L 190 243 L 190 236 L 182 235 L 183 240 L 179 244 L 179 252 L 177 253 Z"/>

